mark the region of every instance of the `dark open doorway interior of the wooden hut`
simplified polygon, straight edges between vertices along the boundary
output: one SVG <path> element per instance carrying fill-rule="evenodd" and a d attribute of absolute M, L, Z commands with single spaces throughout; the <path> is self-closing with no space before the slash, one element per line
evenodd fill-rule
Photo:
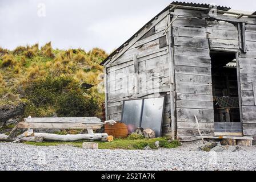
<path fill-rule="evenodd" d="M 235 53 L 211 51 L 214 121 L 240 122 Z"/>

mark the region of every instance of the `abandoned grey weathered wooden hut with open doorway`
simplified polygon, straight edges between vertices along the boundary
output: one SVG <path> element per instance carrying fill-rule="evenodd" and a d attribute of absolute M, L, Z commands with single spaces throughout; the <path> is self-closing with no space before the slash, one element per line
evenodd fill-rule
<path fill-rule="evenodd" d="M 162 135 L 256 139 L 254 13 L 173 2 L 101 65 L 108 119 L 123 101 L 165 97 Z"/>

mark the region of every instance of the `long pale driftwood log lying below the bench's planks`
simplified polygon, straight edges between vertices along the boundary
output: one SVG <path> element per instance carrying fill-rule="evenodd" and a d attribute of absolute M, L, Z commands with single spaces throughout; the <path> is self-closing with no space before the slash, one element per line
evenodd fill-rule
<path fill-rule="evenodd" d="M 43 140 L 46 141 L 62 141 L 62 142 L 71 142 L 77 140 L 101 140 L 102 137 L 107 137 L 106 133 L 103 134 L 78 134 L 78 135 L 57 135 L 57 134 L 48 134 L 48 133 L 26 133 L 33 137 L 43 137 Z"/>

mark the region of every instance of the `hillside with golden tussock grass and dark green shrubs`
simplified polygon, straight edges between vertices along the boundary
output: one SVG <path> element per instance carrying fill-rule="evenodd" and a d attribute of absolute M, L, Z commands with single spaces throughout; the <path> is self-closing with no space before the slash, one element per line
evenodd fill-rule
<path fill-rule="evenodd" d="M 53 49 L 51 43 L 39 48 L 0 48 L 0 107 L 25 104 L 24 117 L 101 116 L 104 94 L 99 65 L 106 52 L 94 48 Z M 86 89 L 86 84 L 94 85 Z"/>

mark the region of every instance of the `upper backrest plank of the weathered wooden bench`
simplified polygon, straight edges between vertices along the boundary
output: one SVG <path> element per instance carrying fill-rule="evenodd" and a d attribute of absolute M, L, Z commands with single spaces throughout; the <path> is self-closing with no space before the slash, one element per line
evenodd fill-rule
<path fill-rule="evenodd" d="M 24 118 L 25 122 L 33 123 L 84 123 L 84 124 L 102 124 L 101 119 L 96 117 L 78 117 L 78 118 Z"/>

